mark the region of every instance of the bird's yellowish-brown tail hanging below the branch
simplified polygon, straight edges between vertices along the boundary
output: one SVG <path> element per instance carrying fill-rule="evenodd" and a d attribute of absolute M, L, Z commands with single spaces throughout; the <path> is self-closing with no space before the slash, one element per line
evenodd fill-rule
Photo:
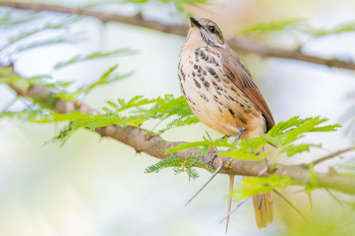
<path fill-rule="evenodd" d="M 245 178 L 253 178 L 246 177 Z M 271 224 L 274 219 L 274 202 L 272 192 L 265 192 L 264 194 L 258 194 L 252 196 L 253 206 L 255 210 L 256 225 L 259 229 L 265 228 L 268 224 Z"/>

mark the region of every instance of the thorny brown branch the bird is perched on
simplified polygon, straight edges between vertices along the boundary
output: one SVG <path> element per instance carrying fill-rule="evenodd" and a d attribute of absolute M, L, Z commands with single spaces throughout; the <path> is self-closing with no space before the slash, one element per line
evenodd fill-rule
<path fill-rule="evenodd" d="M 13 72 L 13 67 L 4 67 L 0 65 L 0 69 L 11 68 L 12 75 L 7 75 L 7 77 L 16 76 L 17 74 Z M 1 77 L 0 77 L 1 82 Z M 27 89 L 20 89 L 14 84 L 9 84 L 9 86 L 19 95 L 28 98 L 41 97 L 43 102 L 52 98 L 53 93 L 49 92 L 43 87 L 32 86 Z M 74 110 L 78 110 L 81 113 L 99 113 L 99 111 L 91 108 L 86 103 L 81 103 L 77 105 L 73 101 L 64 101 L 57 99 L 54 101 L 51 109 L 55 110 L 58 113 L 70 113 Z M 119 127 L 116 125 L 110 125 L 105 127 L 99 127 L 95 129 L 95 132 L 99 133 L 101 136 L 111 137 L 119 142 L 127 144 L 134 148 L 137 152 L 145 152 L 151 156 L 158 157 L 163 159 L 166 157 L 164 154 L 166 149 L 172 148 L 179 143 L 185 142 L 168 142 L 160 138 L 159 136 L 151 137 L 150 134 L 143 129 L 127 126 Z M 212 150 L 212 149 L 211 149 Z M 178 152 L 171 153 L 169 155 L 180 155 L 182 159 L 186 160 L 188 156 L 196 156 L 201 158 L 205 162 L 209 162 L 214 152 L 209 151 L 205 156 L 201 157 L 197 154 L 198 148 L 186 149 Z M 230 161 L 230 157 L 222 157 L 223 165 L 226 166 Z M 219 166 L 218 158 L 214 159 L 211 163 L 214 169 L 217 169 Z M 263 172 L 265 169 L 265 164 L 256 161 L 233 159 L 228 167 L 223 167 L 220 173 L 228 175 L 247 175 L 247 176 L 258 176 L 262 173 L 261 176 L 268 176 L 270 173 L 276 174 L 279 176 L 287 176 L 291 180 L 297 183 L 310 184 L 311 175 L 307 169 L 307 165 L 279 165 L 279 167 L 273 171 Z M 329 173 L 316 173 L 318 178 L 318 183 L 322 188 L 329 188 L 340 190 L 348 193 L 355 194 L 355 178 L 336 175 L 334 172 Z"/>

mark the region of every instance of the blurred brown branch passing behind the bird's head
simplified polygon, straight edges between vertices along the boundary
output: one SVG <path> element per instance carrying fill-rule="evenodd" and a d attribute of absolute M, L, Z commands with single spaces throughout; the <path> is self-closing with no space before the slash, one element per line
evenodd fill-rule
<path fill-rule="evenodd" d="M 146 27 L 154 30 L 159 30 L 164 33 L 177 34 L 181 36 L 186 36 L 187 26 L 183 25 L 166 25 L 158 21 L 152 21 L 143 19 L 141 15 L 136 15 L 132 17 L 121 16 L 109 12 L 91 11 L 83 10 L 80 8 L 70 8 L 58 5 L 48 5 L 48 4 L 35 4 L 35 3 L 25 3 L 25 2 L 13 2 L 13 1 L 1 1 L 0 6 L 13 7 L 23 10 L 34 10 L 34 11 L 54 11 L 63 12 L 69 14 L 93 16 L 98 18 L 103 23 L 109 21 L 122 22 L 132 25 L 137 25 L 141 27 Z M 228 39 L 231 37 L 225 36 Z M 315 57 L 302 53 L 299 50 L 282 50 L 279 48 L 273 48 L 266 45 L 258 44 L 257 42 L 251 42 L 242 39 L 231 38 L 228 40 L 228 45 L 235 51 L 243 53 L 256 53 L 262 57 L 279 57 L 285 59 L 294 59 L 299 61 L 311 62 L 320 65 L 326 65 L 328 67 L 345 68 L 350 70 L 355 70 L 355 64 L 345 61 L 340 61 L 338 59 L 325 59 L 321 57 Z"/>

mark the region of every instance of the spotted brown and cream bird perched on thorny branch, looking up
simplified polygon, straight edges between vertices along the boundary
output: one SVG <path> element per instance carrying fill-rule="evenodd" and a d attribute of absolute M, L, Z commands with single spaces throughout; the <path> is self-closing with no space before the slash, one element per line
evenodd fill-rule
<path fill-rule="evenodd" d="M 190 17 L 181 45 L 178 78 L 181 92 L 196 117 L 227 137 L 260 137 L 274 125 L 271 111 L 249 69 L 228 46 L 218 25 Z M 230 212 L 233 178 L 230 176 Z M 248 177 L 252 178 L 252 177 Z M 272 192 L 252 196 L 259 229 L 274 217 Z M 226 220 L 228 228 L 229 215 Z"/>

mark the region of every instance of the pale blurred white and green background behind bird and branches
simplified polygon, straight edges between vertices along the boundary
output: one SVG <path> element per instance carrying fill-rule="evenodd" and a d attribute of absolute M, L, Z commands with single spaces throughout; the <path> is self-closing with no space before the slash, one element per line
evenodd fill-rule
<path fill-rule="evenodd" d="M 32 1 L 23 1 L 32 2 Z M 212 0 L 209 4 L 182 5 L 182 12 L 172 1 L 36 1 L 78 8 L 90 4 L 90 10 L 115 12 L 168 25 L 188 24 L 187 16 L 209 18 L 221 28 L 225 39 L 233 37 L 257 41 L 272 47 L 294 49 L 302 44 L 302 52 L 318 57 L 337 57 L 345 61 L 355 58 L 355 32 L 345 31 L 312 38 L 297 31 L 273 31 L 268 34 L 240 35 L 246 25 L 304 19 L 314 29 L 331 30 L 338 25 L 355 22 L 355 2 L 350 0 Z M 137 1 L 140 2 L 140 1 Z M 175 1 L 179 2 L 179 1 Z M 190 1 L 180 1 L 190 2 Z M 1 1 L 0 1 L 1 5 Z M 180 5 L 178 5 L 180 6 Z M 25 17 L 30 11 L 1 7 Z M 189 14 L 186 14 L 189 12 Z M 0 28 L 0 45 L 26 30 L 48 22 L 63 21 L 68 14 L 43 11 L 38 19 L 19 26 Z M 38 40 L 65 36 L 71 42 L 49 44 L 23 51 L 17 49 Z M 43 30 L 0 51 L 0 63 L 14 64 L 23 77 L 50 75 L 53 81 L 75 81 L 71 89 L 97 80 L 104 71 L 119 64 L 118 71 L 135 73 L 115 84 L 102 86 L 84 98 L 94 108 L 105 100 L 129 99 L 136 95 L 158 97 L 172 93 L 181 95 L 177 68 L 180 46 L 185 37 L 166 34 L 119 22 L 103 24 L 94 17 L 83 17 L 64 29 Z M 68 65 L 54 66 L 78 54 L 113 51 L 129 47 L 137 53 L 125 57 L 109 57 Z M 266 99 L 276 122 L 292 116 L 322 116 L 329 123 L 344 125 L 337 132 L 314 133 L 303 142 L 323 143 L 324 148 L 339 150 L 354 143 L 351 127 L 355 91 L 355 71 L 280 58 L 262 58 L 257 54 L 239 54 Z M 9 107 L 21 110 L 28 102 L 16 99 L 7 85 L 0 84 L 0 111 Z M 352 112 L 352 113 L 351 113 Z M 349 115 L 350 114 L 350 115 Z M 154 125 L 148 122 L 147 127 Z M 146 174 L 144 169 L 158 159 L 142 154 L 110 138 L 100 138 L 86 129 L 76 132 L 63 146 L 44 142 L 51 139 L 63 124 L 33 124 L 0 120 L 0 235 L 224 235 L 225 224 L 218 224 L 227 208 L 228 176 L 219 174 L 185 206 L 186 201 L 205 182 L 210 173 L 199 170 L 200 178 L 173 170 Z M 212 138 L 221 137 L 202 123 L 171 129 L 162 134 L 169 141 L 202 140 L 205 131 Z M 286 164 L 310 162 L 326 155 L 322 149 L 303 153 Z M 346 156 L 346 155 L 345 155 Z M 317 166 L 327 171 L 338 163 L 334 159 Z M 235 185 L 241 177 L 235 177 Z M 313 208 L 308 195 L 297 187 L 282 193 L 305 215 L 309 224 L 286 205 L 274 198 L 274 223 L 258 230 L 251 200 L 231 215 L 228 235 L 354 235 L 354 206 L 341 206 L 324 190 L 312 192 Z M 353 196 L 334 193 L 345 202 Z M 232 203 L 232 208 L 237 203 Z M 354 203 L 353 203 L 354 204 Z"/>

